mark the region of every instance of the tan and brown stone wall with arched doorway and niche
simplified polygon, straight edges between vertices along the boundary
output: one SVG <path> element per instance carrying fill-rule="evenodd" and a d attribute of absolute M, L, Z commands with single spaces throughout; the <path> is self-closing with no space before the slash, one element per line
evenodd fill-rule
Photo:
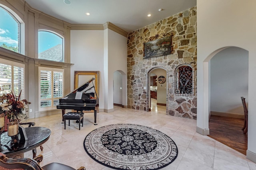
<path fill-rule="evenodd" d="M 144 59 L 143 43 L 156 34 L 172 33 L 173 53 Z M 128 108 L 149 110 L 149 73 L 166 70 L 166 113 L 196 119 L 196 7 L 164 18 L 128 34 Z M 175 94 L 175 69 L 181 64 L 193 68 L 193 94 Z"/>

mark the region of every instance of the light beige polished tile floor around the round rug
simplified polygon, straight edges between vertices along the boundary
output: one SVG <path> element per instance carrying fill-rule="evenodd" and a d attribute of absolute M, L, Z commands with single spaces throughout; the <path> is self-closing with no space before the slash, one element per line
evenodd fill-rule
<path fill-rule="evenodd" d="M 73 168 L 85 166 L 86 170 L 111 170 L 96 161 L 84 151 L 84 138 L 92 130 L 116 123 L 131 123 L 157 129 L 171 137 L 178 146 L 178 157 L 161 170 L 256 170 L 256 164 L 246 156 L 214 139 L 196 133 L 196 120 L 166 115 L 165 106 L 152 105 L 152 111 L 139 111 L 114 106 L 114 112 L 97 114 L 84 113 L 84 127 L 78 130 L 75 121 L 64 130 L 61 114 L 28 121 L 36 126 L 48 127 L 52 134 L 44 143 L 44 150 L 37 148 L 37 154 L 44 156 L 41 166 L 50 162 L 60 162 Z M 68 123 L 68 121 L 67 121 Z M 32 151 L 25 157 L 32 158 Z"/>

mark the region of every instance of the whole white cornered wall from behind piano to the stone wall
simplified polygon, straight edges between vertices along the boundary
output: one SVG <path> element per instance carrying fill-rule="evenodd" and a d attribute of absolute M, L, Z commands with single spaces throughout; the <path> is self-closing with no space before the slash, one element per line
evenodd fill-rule
<path fill-rule="evenodd" d="M 121 70 L 127 77 L 127 39 L 110 30 L 71 30 L 70 32 L 70 91 L 74 90 L 74 71 L 100 71 L 99 109 L 114 111 L 113 75 Z M 127 92 L 126 83 L 123 90 Z M 122 95 L 127 105 L 127 95 Z"/>

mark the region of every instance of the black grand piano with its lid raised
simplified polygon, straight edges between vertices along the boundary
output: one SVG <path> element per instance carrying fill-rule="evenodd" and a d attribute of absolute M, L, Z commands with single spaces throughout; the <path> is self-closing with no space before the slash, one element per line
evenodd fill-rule
<path fill-rule="evenodd" d="M 94 125 L 97 125 L 96 106 L 98 106 L 99 99 L 95 91 L 93 80 L 95 80 L 95 78 L 91 78 L 86 83 L 70 92 L 70 94 L 64 96 L 64 98 L 59 99 L 57 109 L 62 109 L 62 121 L 66 109 L 73 109 L 77 112 L 94 110 Z"/>

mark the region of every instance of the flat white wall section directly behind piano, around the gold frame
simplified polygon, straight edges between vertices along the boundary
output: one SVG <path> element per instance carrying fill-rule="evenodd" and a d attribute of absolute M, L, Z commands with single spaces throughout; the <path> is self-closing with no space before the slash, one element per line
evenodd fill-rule
<path fill-rule="evenodd" d="M 100 71 L 99 75 L 99 109 L 104 108 L 103 78 L 103 31 L 70 31 L 70 92 L 74 90 L 74 71 Z"/>

